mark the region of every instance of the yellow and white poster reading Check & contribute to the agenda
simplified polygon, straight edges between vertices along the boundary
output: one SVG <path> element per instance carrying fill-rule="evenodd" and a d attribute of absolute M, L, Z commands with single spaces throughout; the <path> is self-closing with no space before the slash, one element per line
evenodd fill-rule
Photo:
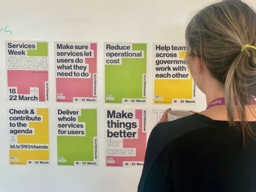
<path fill-rule="evenodd" d="M 49 109 L 7 108 L 11 165 L 47 165 L 49 161 Z"/>

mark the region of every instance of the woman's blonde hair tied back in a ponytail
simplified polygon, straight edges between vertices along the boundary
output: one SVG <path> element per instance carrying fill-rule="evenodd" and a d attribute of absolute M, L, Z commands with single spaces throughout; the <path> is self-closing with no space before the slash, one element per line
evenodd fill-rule
<path fill-rule="evenodd" d="M 247 121 L 245 105 L 256 97 L 256 12 L 240 0 L 224 0 L 199 11 L 187 25 L 185 38 L 190 55 L 196 50 L 211 76 L 224 86 L 230 126 L 237 126 L 237 104 L 243 143 L 256 138 Z"/>

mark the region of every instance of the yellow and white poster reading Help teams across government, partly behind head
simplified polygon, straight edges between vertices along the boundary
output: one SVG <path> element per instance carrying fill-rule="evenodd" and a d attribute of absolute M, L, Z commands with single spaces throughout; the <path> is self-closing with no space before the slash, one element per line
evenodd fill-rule
<path fill-rule="evenodd" d="M 195 104 L 196 84 L 186 52 L 185 43 L 153 43 L 154 104 Z"/>

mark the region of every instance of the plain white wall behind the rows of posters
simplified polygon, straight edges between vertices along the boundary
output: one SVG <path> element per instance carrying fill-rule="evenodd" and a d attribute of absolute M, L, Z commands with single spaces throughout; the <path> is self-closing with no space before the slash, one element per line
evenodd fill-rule
<path fill-rule="evenodd" d="M 152 42 L 184 42 L 188 15 L 213 0 L 1 0 L 0 28 L 0 192 L 135 192 L 141 168 L 104 165 L 103 42 L 148 42 L 148 103 L 152 104 Z M 255 0 L 247 0 L 256 8 Z M 48 40 L 50 57 L 50 103 L 6 102 L 5 40 Z M 53 41 L 98 42 L 99 167 L 57 166 L 55 107 L 79 104 L 55 103 Z M 204 109 L 204 95 L 193 109 Z M 50 166 L 10 166 L 7 106 L 50 106 Z M 83 105 L 85 106 L 85 105 Z M 136 105 L 137 106 L 137 105 Z M 128 107 L 119 105 L 118 107 Z M 134 106 L 130 106 L 134 107 Z"/>

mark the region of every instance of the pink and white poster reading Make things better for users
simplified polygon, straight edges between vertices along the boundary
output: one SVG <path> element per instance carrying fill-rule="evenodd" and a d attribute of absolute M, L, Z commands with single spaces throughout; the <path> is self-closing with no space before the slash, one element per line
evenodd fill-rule
<path fill-rule="evenodd" d="M 105 109 L 106 166 L 144 165 L 147 145 L 146 109 Z"/>

